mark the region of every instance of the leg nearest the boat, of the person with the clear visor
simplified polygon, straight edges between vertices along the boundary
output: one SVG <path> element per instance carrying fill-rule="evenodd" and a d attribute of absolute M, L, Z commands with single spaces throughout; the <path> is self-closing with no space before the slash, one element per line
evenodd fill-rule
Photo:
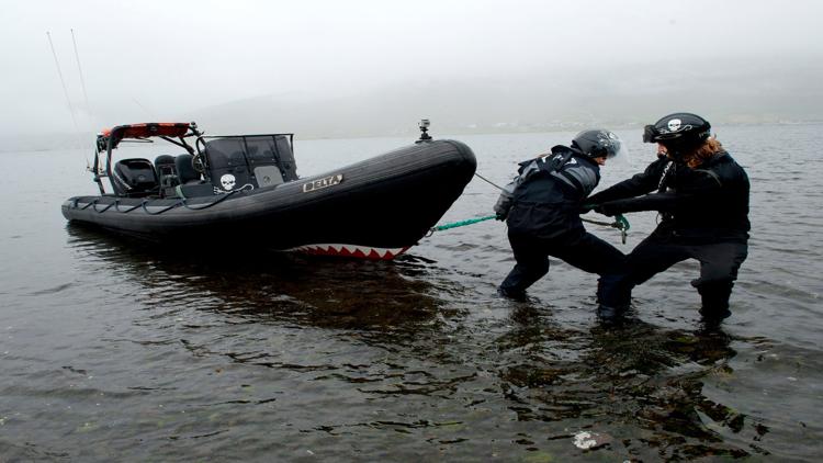
<path fill-rule="evenodd" d="M 522 297 L 526 289 L 549 273 L 549 253 L 540 239 L 509 232 L 509 244 L 517 264 L 500 283 L 500 292 Z"/>

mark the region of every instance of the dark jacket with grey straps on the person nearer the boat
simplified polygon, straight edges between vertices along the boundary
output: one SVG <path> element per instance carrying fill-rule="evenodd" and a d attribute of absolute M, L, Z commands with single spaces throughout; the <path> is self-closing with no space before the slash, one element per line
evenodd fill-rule
<path fill-rule="evenodd" d="M 579 208 L 600 181 L 600 167 L 565 146 L 555 146 L 551 156 L 537 161 L 538 170 L 514 192 L 509 232 L 544 239 L 585 234 Z M 521 163 L 521 174 L 529 165 Z"/>

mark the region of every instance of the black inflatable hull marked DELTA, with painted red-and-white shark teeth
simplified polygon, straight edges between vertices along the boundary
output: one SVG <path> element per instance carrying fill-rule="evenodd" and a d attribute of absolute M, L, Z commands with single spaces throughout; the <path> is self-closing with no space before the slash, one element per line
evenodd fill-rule
<path fill-rule="evenodd" d="M 420 143 L 273 188 L 194 199 L 76 196 L 72 223 L 166 244 L 253 245 L 391 259 L 460 196 L 476 160 L 460 142 Z"/>

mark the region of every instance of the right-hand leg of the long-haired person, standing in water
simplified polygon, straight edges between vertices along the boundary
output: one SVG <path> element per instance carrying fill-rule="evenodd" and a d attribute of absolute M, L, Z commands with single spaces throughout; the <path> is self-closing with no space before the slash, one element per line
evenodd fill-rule
<path fill-rule="evenodd" d="M 722 320 L 732 313 L 729 298 L 732 295 L 737 270 L 746 260 L 748 246 L 745 242 L 718 242 L 696 246 L 694 256 L 700 261 L 700 278 L 691 285 L 700 293 L 700 314 L 707 319 Z"/>

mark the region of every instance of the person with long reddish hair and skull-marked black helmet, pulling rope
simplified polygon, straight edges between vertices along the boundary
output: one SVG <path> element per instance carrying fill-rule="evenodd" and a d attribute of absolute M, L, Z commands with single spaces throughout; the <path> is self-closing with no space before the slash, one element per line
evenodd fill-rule
<path fill-rule="evenodd" d="M 710 129 L 708 121 L 690 113 L 647 125 L 643 140 L 658 144 L 658 159 L 587 200 L 587 206 L 605 215 L 658 211 L 662 217 L 627 256 L 623 271 L 601 279 L 601 318 L 619 318 L 634 286 L 686 259 L 700 261 L 700 278 L 691 285 L 700 293 L 703 319 L 731 315 L 729 298 L 748 249 L 749 183 Z"/>

